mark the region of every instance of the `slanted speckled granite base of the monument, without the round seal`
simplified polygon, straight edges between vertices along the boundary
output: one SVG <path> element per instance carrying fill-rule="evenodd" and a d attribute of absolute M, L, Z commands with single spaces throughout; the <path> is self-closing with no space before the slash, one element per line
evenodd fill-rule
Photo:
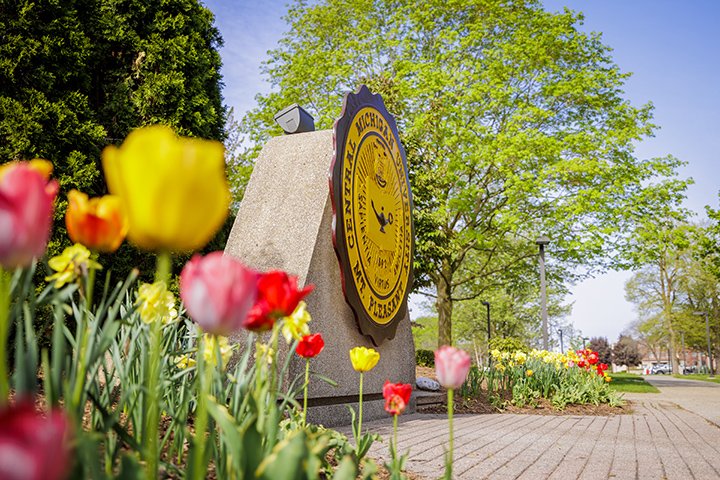
<path fill-rule="evenodd" d="M 360 376 L 350 363 L 353 347 L 372 347 L 380 352 L 377 366 L 364 375 L 364 419 L 387 415 L 379 401 L 386 380 L 415 384 L 409 316 L 401 320 L 395 338 L 373 346 L 358 330 L 345 301 L 332 244 L 328 188 L 332 158 L 331 130 L 271 139 L 257 159 L 225 247 L 226 254 L 259 271 L 285 270 L 297 275 L 299 285 L 315 285 L 306 298 L 312 315 L 310 330 L 323 335 L 325 349 L 311 360 L 310 369 L 334 380 L 337 386 L 311 380 L 308 418 L 326 426 L 349 424 L 346 405 L 354 404 L 357 409 Z M 244 344 L 240 336 L 235 340 Z M 288 352 L 282 340 L 280 344 L 284 348 L 278 352 L 281 358 L 292 355 L 287 378 L 283 379 L 287 385 L 302 378 L 305 360 Z"/>

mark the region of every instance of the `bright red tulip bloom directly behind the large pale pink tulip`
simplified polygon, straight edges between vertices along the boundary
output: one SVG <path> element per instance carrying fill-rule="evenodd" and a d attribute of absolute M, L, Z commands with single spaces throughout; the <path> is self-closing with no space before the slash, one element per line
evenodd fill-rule
<path fill-rule="evenodd" d="M 258 296 L 243 326 L 248 330 L 269 330 L 277 318 L 292 315 L 298 303 L 314 288 L 308 285 L 297 288 L 297 277 L 273 270 L 260 275 L 257 283 Z"/>

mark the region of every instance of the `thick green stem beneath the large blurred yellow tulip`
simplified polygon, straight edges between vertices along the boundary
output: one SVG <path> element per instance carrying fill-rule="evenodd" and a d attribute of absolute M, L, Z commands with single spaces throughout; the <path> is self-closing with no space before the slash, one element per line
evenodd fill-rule
<path fill-rule="evenodd" d="M 170 279 L 171 257 L 168 252 L 160 252 L 157 256 L 155 269 L 155 281 L 164 282 L 167 285 Z M 162 319 L 156 319 L 150 324 L 150 336 L 148 348 L 150 355 L 147 365 L 147 414 L 145 416 L 145 461 L 147 462 L 147 478 L 157 478 L 158 463 L 160 462 L 159 451 L 159 419 L 160 419 L 160 354 L 162 350 Z"/>

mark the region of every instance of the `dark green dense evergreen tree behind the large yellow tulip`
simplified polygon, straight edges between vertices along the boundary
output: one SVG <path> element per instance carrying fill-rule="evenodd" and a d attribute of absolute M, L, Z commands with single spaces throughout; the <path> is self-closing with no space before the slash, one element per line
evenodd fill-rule
<path fill-rule="evenodd" d="M 153 123 L 223 139 L 222 40 L 198 0 L 5 1 L 0 32 L 0 158 L 52 161 L 51 255 L 69 242 L 67 192 L 106 193 L 104 146 Z M 124 246 L 103 262 L 123 274 L 139 256 Z"/>

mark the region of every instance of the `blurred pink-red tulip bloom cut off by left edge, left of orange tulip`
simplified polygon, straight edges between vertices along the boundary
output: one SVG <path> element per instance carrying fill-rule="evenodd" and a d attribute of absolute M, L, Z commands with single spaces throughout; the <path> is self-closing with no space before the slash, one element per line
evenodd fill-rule
<path fill-rule="evenodd" d="M 0 168 L 0 264 L 5 267 L 27 266 L 45 253 L 58 191 L 57 182 L 48 181 L 50 171 L 45 160 Z"/>

